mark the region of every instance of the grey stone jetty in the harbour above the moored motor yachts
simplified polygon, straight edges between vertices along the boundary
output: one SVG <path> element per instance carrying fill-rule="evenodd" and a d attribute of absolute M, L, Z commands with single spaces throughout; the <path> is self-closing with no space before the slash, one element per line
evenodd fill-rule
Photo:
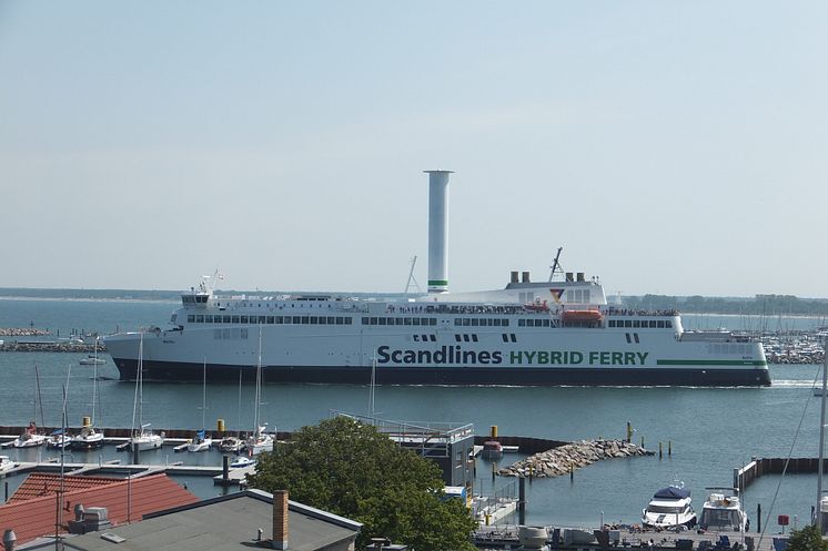
<path fill-rule="evenodd" d="M 559 477 L 602 459 L 654 453 L 626 440 L 580 440 L 535 453 L 498 470 L 497 473 L 502 477 L 518 478 Z"/>

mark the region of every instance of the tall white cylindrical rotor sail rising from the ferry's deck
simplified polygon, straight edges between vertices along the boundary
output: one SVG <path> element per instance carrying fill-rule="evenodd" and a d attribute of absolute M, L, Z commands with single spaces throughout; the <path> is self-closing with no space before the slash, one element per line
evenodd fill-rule
<path fill-rule="evenodd" d="M 448 290 L 448 174 L 453 171 L 425 171 L 428 174 L 428 293 Z"/>

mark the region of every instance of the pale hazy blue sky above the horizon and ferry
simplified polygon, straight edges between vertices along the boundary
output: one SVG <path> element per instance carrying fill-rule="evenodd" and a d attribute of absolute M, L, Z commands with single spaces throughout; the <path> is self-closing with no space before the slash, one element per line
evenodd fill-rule
<path fill-rule="evenodd" d="M 0 0 L 0 287 L 828 296 L 828 2 Z"/>

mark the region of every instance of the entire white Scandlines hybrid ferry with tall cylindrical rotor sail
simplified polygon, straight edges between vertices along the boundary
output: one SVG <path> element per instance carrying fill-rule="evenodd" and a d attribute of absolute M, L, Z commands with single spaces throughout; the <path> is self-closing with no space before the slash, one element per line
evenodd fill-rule
<path fill-rule="evenodd" d="M 428 293 L 222 296 L 216 276 L 181 295 L 168 328 L 104 338 L 121 379 L 509 386 L 769 386 L 761 344 L 685 331 L 677 312 L 607 304 L 597 278 L 563 273 L 450 293 L 448 171 L 428 171 Z M 559 252 L 558 252 L 559 253 Z M 557 258 L 552 275 L 557 271 Z"/>

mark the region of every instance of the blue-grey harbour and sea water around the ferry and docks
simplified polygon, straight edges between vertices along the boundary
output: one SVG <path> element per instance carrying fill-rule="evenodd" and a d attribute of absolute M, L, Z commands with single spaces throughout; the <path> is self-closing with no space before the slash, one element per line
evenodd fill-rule
<path fill-rule="evenodd" d="M 111 333 L 151 325 L 164 326 L 174 303 L 101 300 L 0 300 L 0 327 L 97 330 Z M 743 328 L 758 324 L 744 316 L 684 316 L 687 328 Z M 791 318 L 788 328 L 812 329 L 817 318 Z M 747 327 L 751 328 L 751 327 Z M 9 338 L 9 337 L 2 337 Z M 0 425 L 22 426 L 31 419 L 48 426 L 61 424 L 61 401 L 67 389 L 67 415 L 78 426 L 91 414 L 93 366 L 78 361 L 87 354 L 0 354 Z M 135 385 L 118 380 L 109 356 L 98 367 L 99 404 L 95 422 L 130 427 L 133 421 Z M 37 369 L 36 369 L 37 366 Z M 625 438 L 629 422 L 633 441 L 664 456 L 599 461 L 568 476 L 527 482 L 527 522 L 565 526 L 597 526 L 607 522 L 635 523 L 653 493 L 668 483 L 683 481 L 693 491 L 700 510 L 705 488 L 731 486 L 734 469 L 753 457 L 808 457 L 818 453 L 819 399 L 810 388 L 820 377 L 820 366 L 771 366 L 769 388 L 612 388 L 612 387 L 436 387 L 381 386 L 375 391 L 375 410 L 384 419 L 410 422 L 474 424 L 477 433 L 496 425 L 501 435 L 555 440 Z M 36 371 L 39 392 L 36 392 Z M 39 399 L 36 400 L 36 394 Z M 209 384 L 206 426 L 223 419 L 229 430 L 253 427 L 252 384 Z M 156 428 L 196 429 L 202 426 L 202 386 L 199 382 L 144 382 L 143 421 Z M 333 411 L 365 415 L 368 387 L 359 385 L 265 385 L 262 418 L 270 429 L 295 430 L 331 417 Z M 668 447 L 672 455 L 668 455 Z M 52 450 L 13 450 L 2 453 L 31 460 Z M 113 450 L 72 452 L 68 461 L 123 458 Z M 522 455 L 505 455 L 509 463 Z M 155 465 L 183 459 L 169 447 L 142 453 L 142 461 Z M 216 452 L 186 455 L 195 465 L 220 465 Z M 477 461 L 476 491 L 492 493 L 513 482 L 497 477 L 492 463 Z M 16 487 L 22 477 L 12 477 Z M 223 490 L 209 478 L 185 479 L 201 497 Z M 745 509 L 756 527 L 756 508 L 761 504 L 763 523 L 778 529 L 778 514 L 802 523 L 817 502 L 815 475 L 766 476 L 743 496 Z M 516 484 L 512 491 L 516 493 Z M 776 501 L 774 498 L 776 496 Z M 771 509 L 773 503 L 773 509 Z"/>

